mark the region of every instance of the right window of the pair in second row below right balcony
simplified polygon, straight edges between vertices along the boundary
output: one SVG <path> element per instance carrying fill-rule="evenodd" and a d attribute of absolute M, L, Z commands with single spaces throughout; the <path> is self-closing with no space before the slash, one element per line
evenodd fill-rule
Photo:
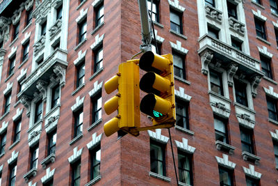
<path fill-rule="evenodd" d="M 253 131 L 240 127 L 241 148 L 247 153 L 254 154 Z"/>

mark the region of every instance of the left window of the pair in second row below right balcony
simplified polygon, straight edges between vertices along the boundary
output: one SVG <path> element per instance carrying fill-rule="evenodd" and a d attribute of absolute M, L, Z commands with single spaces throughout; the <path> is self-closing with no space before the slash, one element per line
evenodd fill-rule
<path fill-rule="evenodd" d="M 214 130 L 215 141 L 222 141 L 225 144 L 229 144 L 227 122 L 223 119 L 214 117 Z"/>

